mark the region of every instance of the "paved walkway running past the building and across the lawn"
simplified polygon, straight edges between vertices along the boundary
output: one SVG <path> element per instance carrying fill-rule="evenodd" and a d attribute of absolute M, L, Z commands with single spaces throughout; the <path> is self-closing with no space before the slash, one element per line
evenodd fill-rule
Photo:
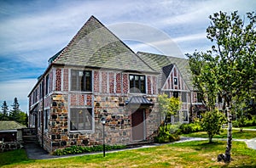
<path fill-rule="evenodd" d="M 248 129 L 243 129 L 243 130 L 248 130 Z M 251 131 L 256 131 L 256 129 L 250 129 Z M 184 142 L 189 142 L 189 141 L 205 141 L 208 140 L 208 138 L 203 138 L 203 137 L 181 137 L 181 139 L 177 142 L 174 143 L 184 143 Z M 226 141 L 227 139 L 225 138 L 213 138 L 212 140 L 220 140 L 220 141 Z M 256 150 L 256 138 L 253 139 L 233 139 L 233 141 L 240 141 L 240 142 L 245 142 L 247 143 L 248 148 L 253 148 Z M 150 147 L 156 147 L 160 146 L 161 144 L 159 143 L 154 143 L 154 144 L 148 144 L 148 145 L 143 145 L 137 148 L 150 148 Z M 26 154 L 27 157 L 31 160 L 49 160 L 49 159 L 61 159 L 61 158 L 69 158 L 69 157 L 76 157 L 76 156 L 83 156 L 83 155 L 89 155 L 89 154 L 101 154 L 102 152 L 96 152 L 96 153 L 86 153 L 86 154 L 72 154 L 72 155 L 65 155 L 65 156 L 55 156 L 51 155 L 48 152 L 46 152 L 43 148 L 41 148 L 38 144 L 26 144 L 25 145 L 26 149 Z M 113 151 L 107 151 L 106 153 L 113 153 L 113 152 L 118 152 L 118 151 L 124 151 L 124 150 L 131 150 L 131 149 L 136 149 L 136 148 L 125 148 L 122 150 L 113 150 Z"/>

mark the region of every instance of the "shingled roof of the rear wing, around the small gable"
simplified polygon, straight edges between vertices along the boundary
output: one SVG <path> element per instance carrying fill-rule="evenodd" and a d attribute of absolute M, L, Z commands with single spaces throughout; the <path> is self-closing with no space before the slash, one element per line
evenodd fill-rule
<path fill-rule="evenodd" d="M 193 90 L 192 75 L 191 71 L 189 70 L 189 59 L 143 52 L 138 52 L 137 55 L 147 64 L 149 64 L 154 70 L 160 73 L 159 87 L 161 87 L 162 83 L 166 80 L 163 78 L 166 76 L 165 74 L 168 71 L 171 72 L 173 64 L 176 64 L 181 76 L 183 77 L 183 80 L 186 82 L 189 89 Z"/>

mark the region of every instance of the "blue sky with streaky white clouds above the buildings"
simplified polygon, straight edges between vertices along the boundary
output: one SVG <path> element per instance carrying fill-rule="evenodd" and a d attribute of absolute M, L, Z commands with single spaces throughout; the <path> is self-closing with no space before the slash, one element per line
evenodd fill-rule
<path fill-rule="evenodd" d="M 209 15 L 255 11 L 255 0 L 0 0 L 0 104 L 27 95 L 48 59 L 67 46 L 94 15 L 135 53 L 184 57 L 207 51 Z"/>

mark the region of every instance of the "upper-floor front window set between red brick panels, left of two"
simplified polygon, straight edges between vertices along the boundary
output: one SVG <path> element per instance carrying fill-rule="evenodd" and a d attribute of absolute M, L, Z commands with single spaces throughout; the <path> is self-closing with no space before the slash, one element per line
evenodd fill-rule
<path fill-rule="evenodd" d="M 91 91 L 91 71 L 90 70 L 71 70 L 71 90 L 72 91 Z"/>

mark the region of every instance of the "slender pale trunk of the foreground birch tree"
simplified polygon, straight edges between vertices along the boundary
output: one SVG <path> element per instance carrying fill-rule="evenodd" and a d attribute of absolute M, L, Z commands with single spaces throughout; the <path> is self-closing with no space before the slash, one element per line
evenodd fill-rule
<path fill-rule="evenodd" d="M 230 112 L 230 107 L 227 109 L 228 117 L 228 132 L 227 132 L 227 147 L 225 150 L 225 162 L 231 161 L 231 148 L 232 148 L 232 114 Z"/>

